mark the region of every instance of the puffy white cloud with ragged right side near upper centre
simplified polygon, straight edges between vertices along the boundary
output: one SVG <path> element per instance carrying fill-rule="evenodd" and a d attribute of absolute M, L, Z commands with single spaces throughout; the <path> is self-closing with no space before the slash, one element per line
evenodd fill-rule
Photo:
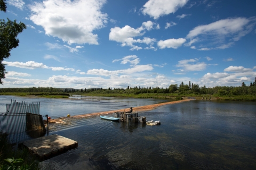
<path fill-rule="evenodd" d="M 147 45 L 153 45 L 156 39 L 144 37 L 143 39 L 133 39 L 134 37 L 143 36 L 145 30 L 154 29 L 156 23 L 152 21 L 143 22 L 141 27 L 134 29 L 129 25 L 125 25 L 123 28 L 115 27 L 110 29 L 109 40 L 117 41 L 122 43 L 122 47 L 130 46 L 130 50 L 142 49 L 142 47 L 133 45 L 134 43 L 143 43 Z"/>

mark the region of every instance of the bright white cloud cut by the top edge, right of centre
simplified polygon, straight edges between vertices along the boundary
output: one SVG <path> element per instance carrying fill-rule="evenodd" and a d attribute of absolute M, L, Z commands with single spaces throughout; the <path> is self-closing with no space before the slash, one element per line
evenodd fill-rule
<path fill-rule="evenodd" d="M 148 14 L 154 19 L 158 19 L 160 16 L 176 12 L 178 8 L 186 5 L 187 2 L 188 0 L 149 0 L 143 5 L 141 12 L 144 15 Z"/>

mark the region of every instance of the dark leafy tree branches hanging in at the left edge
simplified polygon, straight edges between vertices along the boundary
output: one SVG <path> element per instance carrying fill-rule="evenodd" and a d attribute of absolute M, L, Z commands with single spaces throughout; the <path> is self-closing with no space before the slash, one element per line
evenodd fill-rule
<path fill-rule="evenodd" d="M 6 12 L 5 0 L 0 0 L 0 11 Z M 12 48 L 19 46 L 18 34 L 26 29 L 26 25 L 22 22 L 17 23 L 16 20 L 11 21 L 7 18 L 5 20 L 0 19 L 0 84 L 3 84 L 2 79 L 5 78 L 5 64 L 2 62 L 4 58 L 9 58 Z"/>

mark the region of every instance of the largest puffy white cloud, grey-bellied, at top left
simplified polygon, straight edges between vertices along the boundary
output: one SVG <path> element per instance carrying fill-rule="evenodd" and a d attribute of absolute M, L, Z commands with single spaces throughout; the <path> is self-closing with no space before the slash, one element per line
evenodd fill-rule
<path fill-rule="evenodd" d="M 106 0 L 35 2 L 29 5 L 32 13 L 30 20 L 41 25 L 46 35 L 58 37 L 69 45 L 98 45 L 98 35 L 92 32 L 105 27 L 107 23 L 108 15 L 101 12 L 105 3 Z"/>

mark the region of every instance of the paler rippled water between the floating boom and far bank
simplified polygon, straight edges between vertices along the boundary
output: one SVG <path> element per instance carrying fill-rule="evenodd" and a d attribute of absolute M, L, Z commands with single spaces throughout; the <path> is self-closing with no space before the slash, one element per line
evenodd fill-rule
<path fill-rule="evenodd" d="M 171 100 L 161 99 L 138 99 L 138 98 L 114 98 L 114 97 L 92 97 L 92 96 L 73 96 L 69 99 L 53 98 L 29 98 L 18 96 L 0 96 L 0 113 L 4 113 L 6 104 L 12 100 L 17 102 L 33 101 L 40 102 L 40 114 L 48 114 L 52 118 L 67 116 L 67 114 L 81 115 L 95 112 L 114 111 L 117 109 L 152 105 Z"/>

